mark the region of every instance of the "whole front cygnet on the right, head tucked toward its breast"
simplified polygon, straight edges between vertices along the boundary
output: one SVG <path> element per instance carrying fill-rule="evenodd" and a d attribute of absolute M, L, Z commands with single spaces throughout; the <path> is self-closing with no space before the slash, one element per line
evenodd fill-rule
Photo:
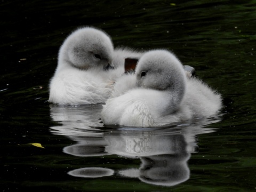
<path fill-rule="evenodd" d="M 111 97 L 101 112 L 105 125 L 161 126 L 212 116 L 221 108 L 220 94 L 196 77 L 188 78 L 166 50 L 143 54 L 135 75 L 121 77 Z"/>

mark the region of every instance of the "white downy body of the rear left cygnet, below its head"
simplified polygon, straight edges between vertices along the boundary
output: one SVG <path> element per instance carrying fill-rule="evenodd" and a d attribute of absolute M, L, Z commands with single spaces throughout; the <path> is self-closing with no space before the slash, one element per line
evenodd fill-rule
<path fill-rule="evenodd" d="M 70 68 L 59 71 L 51 81 L 49 101 L 73 105 L 105 102 L 115 78 L 123 73 L 122 68 L 109 71 Z"/>

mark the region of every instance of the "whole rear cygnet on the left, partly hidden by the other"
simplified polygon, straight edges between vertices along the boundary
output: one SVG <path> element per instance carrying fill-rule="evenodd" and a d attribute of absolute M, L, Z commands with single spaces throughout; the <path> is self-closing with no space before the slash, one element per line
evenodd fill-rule
<path fill-rule="evenodd" d="M 105 102 L 113 82 L 124 73 L 125 57 L 142 53 L 114 50 L 102 30 L 83 27 L 71 33 L 59 50 L 58 66 L 50 82 L 49 102 L 95 104 Z"/>

